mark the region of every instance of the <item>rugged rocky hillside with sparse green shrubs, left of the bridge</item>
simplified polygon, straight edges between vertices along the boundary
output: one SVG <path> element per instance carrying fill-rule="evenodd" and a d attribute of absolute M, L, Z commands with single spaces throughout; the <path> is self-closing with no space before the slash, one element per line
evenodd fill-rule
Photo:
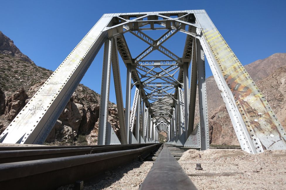
<path fill-rule="evenodd" d="M 35 65 L 0 32 L 0 133 L 51 74 L 51 70 Z M 99 101 L 99 94 L 79 84 L 46 142 L 97 144 Z M 109 104 L 108 121 L 120 139 L 114 103 Z"/>

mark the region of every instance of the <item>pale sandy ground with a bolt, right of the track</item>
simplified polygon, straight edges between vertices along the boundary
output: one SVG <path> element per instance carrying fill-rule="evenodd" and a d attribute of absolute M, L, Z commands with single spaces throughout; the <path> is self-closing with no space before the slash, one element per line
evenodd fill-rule
<path fill-rule="evenodd" d="M 198 189 L 286 189 L 286 150 L 188 150 L 179 163 Z M 195 170 L 197 163 L 203 170 Z"/>

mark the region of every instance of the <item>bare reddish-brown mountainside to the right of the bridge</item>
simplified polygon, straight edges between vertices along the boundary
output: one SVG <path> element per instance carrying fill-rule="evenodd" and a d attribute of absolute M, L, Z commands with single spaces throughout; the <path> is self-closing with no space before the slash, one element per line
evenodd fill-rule
<path fill-rule="evenodd" d="M 275 53 L 244 67 L 278 115 L 282 125 L 286 126 L 286 53 Z M 211 143 L 239 145 L 214 77 L 208 77 L 206 83 Z M 196 114 L 198 121 L 198 113 Z"/>

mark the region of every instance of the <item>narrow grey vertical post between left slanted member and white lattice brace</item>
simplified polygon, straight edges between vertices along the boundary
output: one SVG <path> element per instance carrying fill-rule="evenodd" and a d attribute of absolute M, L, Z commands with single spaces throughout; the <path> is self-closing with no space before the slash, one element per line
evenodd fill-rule
<path fill-rule="evenodd" d="M 130 122 L 130 104 L 131 104 L 131 64 L 126 64 L 127 73 L 126 73 L 126 99 L 125 99 L 125 129 L 127 139 L 129 139 L 129 122 Z M 130 139 L 127 143 L 130 142 Z"/>

